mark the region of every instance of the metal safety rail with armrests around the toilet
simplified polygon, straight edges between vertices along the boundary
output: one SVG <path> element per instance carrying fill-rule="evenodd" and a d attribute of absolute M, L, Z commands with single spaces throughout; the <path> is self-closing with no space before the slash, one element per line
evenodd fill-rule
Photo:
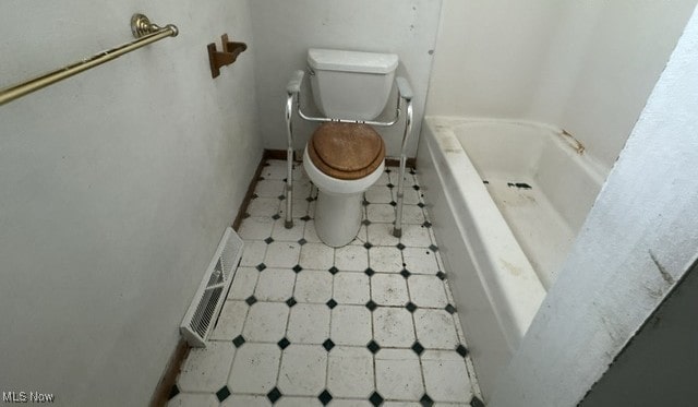
<path fill-rule="evenodd" d="M 312 74 L 312 72 L 310 73 Z M 402 76 L 397 76 L 395 79 L 395 83 L 397 85 L 397 101 L 395 106 L 395 116 L 390 121 L 359 121 L 359 120 L 346 120 L 346 119 L 336 119 L 336 118 L 325 118 L 325 117 L 312 117 L 303 113 L 301 109 L 301 84 L 303 82 L 303 77 L 305 76 L 305 72 L 302 70 L 298 70 L 293 72 L 291 80 L 286 85 L 286 130 L 287 130 L 287 139 L 288 139 L 288 148 L 286 151 L 286 167 L 287 167 L 287 178 L 286 178 L 286 222 L 284 226 L 287 229 L 293 227 L 293 218 L 292 218 L 292 210 L 293 210 L 293 128 L 292 128 L 292 119 L 293 119 L 293 106 L 296 106 L 296 110 L 298 111 L 298 116 L 306 121 L 311 122 L 327 122 L 327 121 L 336 121 L 340 123 L 363 123 L 375 127 L 390 127 L 398 122 L 400 115 L 402 112 L 402 105 L 406 105 L 406 119 L 405 119 L 405 132 L 402 133 L 402 144 L 400 146 L 400 178 L 397 183 L 397 208 L 395 213 L 395 228 L 393 229 L 393 236 L 396 238 L 402 237 L 402 202 L 405 197 L 405 169 L 407 166 L 407 142 L 412 133 L 412 87 L 409 82 Z"/>

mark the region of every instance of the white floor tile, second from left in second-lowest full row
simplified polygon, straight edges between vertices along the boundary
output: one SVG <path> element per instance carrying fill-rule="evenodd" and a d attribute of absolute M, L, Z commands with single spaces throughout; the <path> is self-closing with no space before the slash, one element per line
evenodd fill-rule
<path fill-rule="evenodd" d="M 250 307 L 242 336 L 248 342 L 276 343 L 286 335 L 288 306 L 284 302 L 256 302 Z"/>

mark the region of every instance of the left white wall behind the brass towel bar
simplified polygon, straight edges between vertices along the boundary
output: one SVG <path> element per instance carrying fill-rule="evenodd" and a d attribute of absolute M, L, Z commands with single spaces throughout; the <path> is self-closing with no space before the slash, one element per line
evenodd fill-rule
<path fill-rule="evenodd" d="M 251 39 L 244 0 L 0 4 L 0 86 L 167 38 L 0 107 L 0 390 L 147 404 L 261 158 L 251 50 L 210 77 L 206 44 Z"/>

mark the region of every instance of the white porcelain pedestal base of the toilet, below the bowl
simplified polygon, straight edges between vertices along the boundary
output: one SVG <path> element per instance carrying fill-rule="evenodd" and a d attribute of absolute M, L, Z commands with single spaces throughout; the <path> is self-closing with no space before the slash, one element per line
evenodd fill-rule
<path fill-rule="evenodd" d="M 315 231 L 327 246 L 349 244 L 359 234 L 363 213 L 363 192 L 327 193 L 318 189 L 315 203 Z"/>

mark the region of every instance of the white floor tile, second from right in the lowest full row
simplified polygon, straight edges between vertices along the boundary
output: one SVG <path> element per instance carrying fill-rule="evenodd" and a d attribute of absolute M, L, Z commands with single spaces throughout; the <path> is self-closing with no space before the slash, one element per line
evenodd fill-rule
<path fill-rule="evenodd" d="M 419 358 L 410 349 L 381 349 L 375 356 L 375 380 L 383 398 L 419 400 L 424 395 Z"/>

